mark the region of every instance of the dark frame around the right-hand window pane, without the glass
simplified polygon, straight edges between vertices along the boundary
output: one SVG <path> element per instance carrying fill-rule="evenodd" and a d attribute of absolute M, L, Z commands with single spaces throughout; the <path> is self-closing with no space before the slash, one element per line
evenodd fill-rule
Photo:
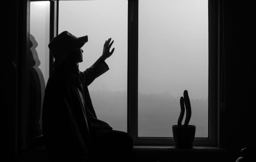
<path fill-rule="evenodd" d="M 209 17 L 209 137 L 195 138 L 195 146 L 218 145 L 219 110 L 219 7 L 220 0 L 208 1 Z M 138 137 L 138 16 L 139 0 L 128 0 L 128 133 L 135 145 L 174 146 L 173 137 Z M 170 125 L 171 128 L 171 125 Z"/>

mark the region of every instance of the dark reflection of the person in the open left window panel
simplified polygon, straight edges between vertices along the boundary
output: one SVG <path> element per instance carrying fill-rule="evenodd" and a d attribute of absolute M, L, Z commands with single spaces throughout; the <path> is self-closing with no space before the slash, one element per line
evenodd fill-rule
<path fill-rule="evenodd" d="M 30 34 L 29 51 L 29 137 L 42 135 L 42 107 L 45 93 L 44 75 L 36 51 L 38 43 Z"/>

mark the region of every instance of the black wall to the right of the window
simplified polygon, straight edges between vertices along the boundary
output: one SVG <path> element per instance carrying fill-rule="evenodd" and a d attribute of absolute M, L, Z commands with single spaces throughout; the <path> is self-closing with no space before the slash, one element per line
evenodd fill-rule
<path fill-rule="evenodd" d="M 224 1 L 226 127 L 229 155 L 236 157 L 243 147 L 256 146 L 255 5 Z"/>

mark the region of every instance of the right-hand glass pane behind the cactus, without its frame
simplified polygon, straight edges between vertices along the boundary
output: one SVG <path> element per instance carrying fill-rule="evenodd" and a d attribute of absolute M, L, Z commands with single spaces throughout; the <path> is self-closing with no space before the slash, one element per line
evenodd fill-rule
<path fill-rule="evenodd" d="M 208 0 L 139 0 L 139 137 L 173 137 L 184 90 L 208 137 L 208 55 Z"/>

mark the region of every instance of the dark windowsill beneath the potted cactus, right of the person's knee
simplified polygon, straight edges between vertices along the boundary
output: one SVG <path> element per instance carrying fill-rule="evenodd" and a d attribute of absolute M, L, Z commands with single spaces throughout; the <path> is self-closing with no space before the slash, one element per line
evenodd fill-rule
<path fill-rule="evenodd" d="M 213 146 L 194 146 L 177 149 L 174 146 L 134 146 L 135 161 L 216 162 L 226 158 L 227 149 Z"/>

